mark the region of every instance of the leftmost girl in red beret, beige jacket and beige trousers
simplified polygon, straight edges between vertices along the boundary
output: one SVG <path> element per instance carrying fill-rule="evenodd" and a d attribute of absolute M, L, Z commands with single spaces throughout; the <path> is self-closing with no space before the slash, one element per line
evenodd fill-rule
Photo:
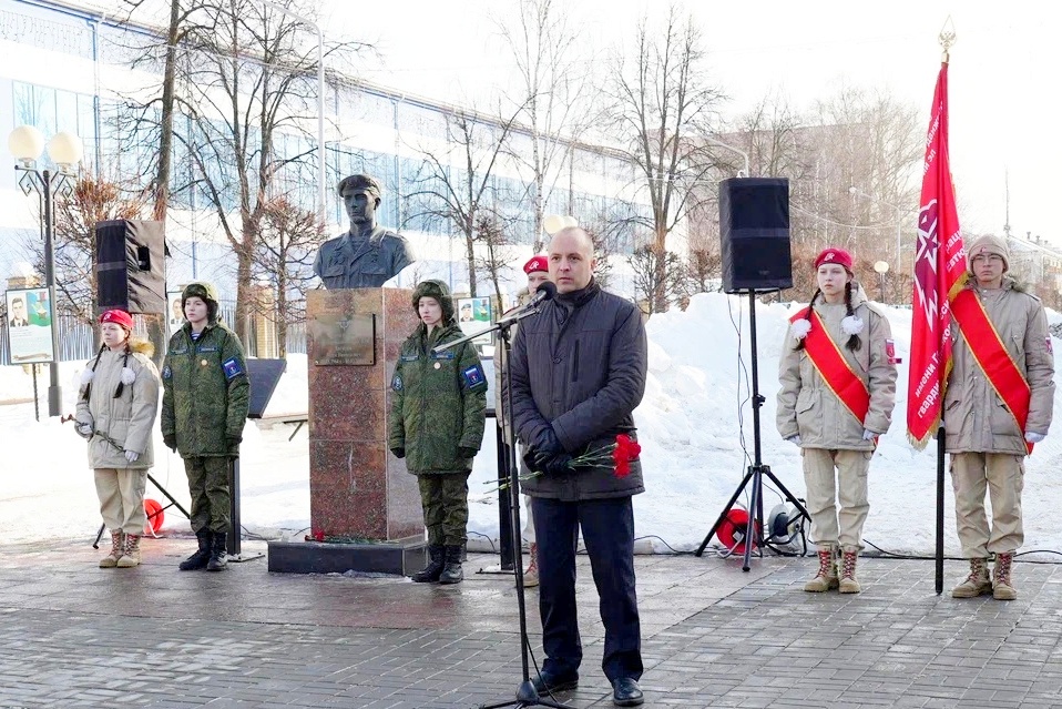
<path fill-rule="evenodd" d="M 89 442 L 100 514 L 111 530 L 101 568 L 140 564 L 147 517 L 144 488 L 153 464 L 151 432 L 159 409 L 159 371 L 151 343 L 131 338 L 133 318 L 110 310 L 100 316 L 103 345 L 81 377 L 78 433 Z"/>

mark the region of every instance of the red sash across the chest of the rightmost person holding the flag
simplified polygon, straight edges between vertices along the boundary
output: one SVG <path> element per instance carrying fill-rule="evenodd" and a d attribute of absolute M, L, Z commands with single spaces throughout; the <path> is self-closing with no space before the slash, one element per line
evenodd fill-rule
<path fill-rule="evenodd" d="M 1007 405 L 1007 411 L 1014 417 L 1019 434 L 1024 435 L 1032 389 L 1021 369 L 1018 368 L 1018 364 L 1010 356 L 1007 345 L 1000 340 L 995 326 L 988 318 L 981 298 L 969 288 L 962 290 L 951 301 L 951 313 L 959 324 L 962 338 L 973 353 L 973 358 L 984 372 L 984 377 L 995 389 L 995 395 Z M 1032 453 L 1032 444 L 1028 440 L 1025 448 Z"/>

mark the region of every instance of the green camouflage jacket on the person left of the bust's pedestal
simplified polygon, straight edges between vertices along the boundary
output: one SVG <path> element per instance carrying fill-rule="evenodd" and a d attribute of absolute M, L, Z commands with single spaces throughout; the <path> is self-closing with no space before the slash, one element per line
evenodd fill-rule
<path fill-rule="evenodd" d="M 162 387 L 162 435 L 176 436 L 181 456 L 229 455 L 226 439 L 243 437 L 251 389 L 236 334 L 215 322 L 193 342 L 185 323 L 170 338 Z"/>

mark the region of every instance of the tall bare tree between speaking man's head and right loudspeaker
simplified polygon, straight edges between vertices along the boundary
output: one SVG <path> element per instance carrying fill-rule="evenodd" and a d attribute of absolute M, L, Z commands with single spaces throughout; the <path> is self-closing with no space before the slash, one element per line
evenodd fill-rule
<path fill-rule="evenodd" d="M 667 236 L 695 203 L 691 185 L 715 166 L 712 143 L 695 140 L 712 132 L 723 94 L 702 68 L 701 31 L 692 17 L 672 7 L 658 37 L 647 19 L 637 29 L 633 60 L 614 59 L 613 118 L 629 159 L 636 165 L 652 207 L 653 308 L 667 308 Z"/>

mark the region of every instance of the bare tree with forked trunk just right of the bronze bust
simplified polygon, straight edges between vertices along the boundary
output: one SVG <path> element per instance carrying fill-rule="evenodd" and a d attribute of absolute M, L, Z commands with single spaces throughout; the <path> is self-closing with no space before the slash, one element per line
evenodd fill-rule
<path fill-rule="evenodd" d="M 417 188 L 407 195 L 412 206 L 406 222 L 437 216 L 449 222 L 464 242 L 469 293 L 477 287 L 476 255 L 481 219 L 501 219 L 496 206 L 494 170 L 506 155 L 506 142 L 515 115 L 489 118 L 472 111 L 446 113 L 446 149 L 416 148 L 423 159 L 413 178 Z"/>

